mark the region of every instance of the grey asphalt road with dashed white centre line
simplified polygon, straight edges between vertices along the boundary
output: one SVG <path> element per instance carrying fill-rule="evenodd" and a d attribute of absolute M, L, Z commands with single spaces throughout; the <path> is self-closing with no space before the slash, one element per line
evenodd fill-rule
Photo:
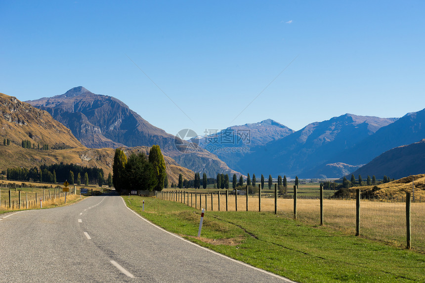
<path fill-rule="evenodd" d="M 290 282 L 166 232 L 118 196 L 0 219 L 0 282 Z"/>

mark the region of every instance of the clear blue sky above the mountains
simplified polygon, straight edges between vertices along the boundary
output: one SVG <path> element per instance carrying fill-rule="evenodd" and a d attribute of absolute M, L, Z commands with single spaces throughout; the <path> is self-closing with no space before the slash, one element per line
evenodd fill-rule
<path fill-rule="evenodd" d="M 82 85 L 171 134 L 401 117 L 425 108 L 424 14 L 419 0 L 1 0 L 0 92 Z"/>

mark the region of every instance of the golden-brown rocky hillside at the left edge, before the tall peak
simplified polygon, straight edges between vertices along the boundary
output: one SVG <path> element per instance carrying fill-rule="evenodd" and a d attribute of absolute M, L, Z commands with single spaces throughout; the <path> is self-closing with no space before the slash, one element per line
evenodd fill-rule
<path fill-rule="evenodd" d="M 71 131 L 47 112 L 0 93 L 0 137 L 22 147 L 22 140 L 51 149 L 84 147 Z"/>

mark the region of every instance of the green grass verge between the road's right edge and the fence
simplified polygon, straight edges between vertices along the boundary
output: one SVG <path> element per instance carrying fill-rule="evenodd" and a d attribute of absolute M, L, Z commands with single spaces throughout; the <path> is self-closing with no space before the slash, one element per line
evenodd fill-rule
<path fill-rule="evenodd" d="M 124 200 L 170 232 L 294 281 L 425 282 L 425 254 L 331 228 L 269 212 L 207 211 L 201 239 L 197 239 L 199 210 L 153 198 L 131 196 Z"/>

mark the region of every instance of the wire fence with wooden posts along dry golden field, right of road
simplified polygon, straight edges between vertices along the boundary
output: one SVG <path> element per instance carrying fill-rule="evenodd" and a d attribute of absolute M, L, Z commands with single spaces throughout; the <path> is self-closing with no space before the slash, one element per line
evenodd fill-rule
<path fill-rule="evenodd" d="M 244 192 L 244 191 L 242 191 Z M 245 192 L 244 192 L 245 193 Z M 294 218 L 294 195 L 276 197 L 273 194 L 255 196 L 227 193 L 191 193 L 186 191 L 158 192 L 157 198 L 182 202 L 207 211 L 269 211 Z M 406 197 L 359 199 L 359 234 L 361 237 L 406 246 Z M 397 202 L 398 201 L 398 202 Z M 402 202 L 403 201 L 403 202 Z M 247 205 L 248 203 L 248 205 Z M 320 197 L 297 197 L 296 218 L 299 221 L 320 225 Z M 411 247 L 425 252 L 425 202 L 411 199 Z M 356 198 L 323 199 L 323 224 L 344 233 L 356 234 Z"/>

